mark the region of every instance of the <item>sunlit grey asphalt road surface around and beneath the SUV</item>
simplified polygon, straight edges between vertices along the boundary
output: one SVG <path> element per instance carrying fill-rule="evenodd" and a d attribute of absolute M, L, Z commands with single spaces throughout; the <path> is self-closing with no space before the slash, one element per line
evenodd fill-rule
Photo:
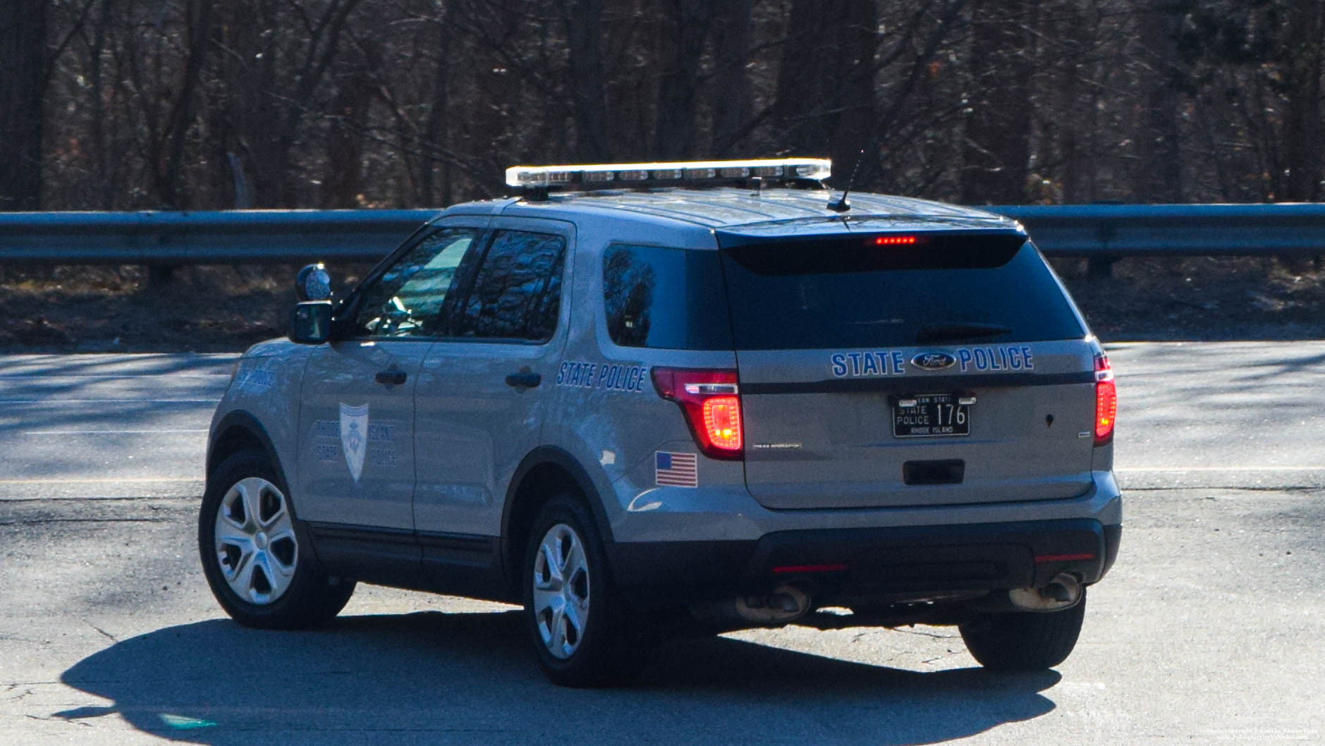
<path fill-rule="evenodd" d="M 232 624 L 193 538 L 231 359 L 0 358 L 0 743 L 1325 742 L 1325 342 L 1110 356 L 1122 557 L 1055 672 L 792 627 L 611 692 L 547 685 L 494 604 L 362 587 L 326 631 Z"/>

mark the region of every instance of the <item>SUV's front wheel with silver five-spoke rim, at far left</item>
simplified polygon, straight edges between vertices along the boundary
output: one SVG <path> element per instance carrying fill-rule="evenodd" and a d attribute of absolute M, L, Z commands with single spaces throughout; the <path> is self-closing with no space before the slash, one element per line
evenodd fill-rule
<path fill-rule="evenodd" d="M 261 451 L 235 453 L 207 480 L 197 549 L 212 595 L 245 627 L 318 627 L 354 594 L 352 582 L 317 566 L 289 489 Z"/>

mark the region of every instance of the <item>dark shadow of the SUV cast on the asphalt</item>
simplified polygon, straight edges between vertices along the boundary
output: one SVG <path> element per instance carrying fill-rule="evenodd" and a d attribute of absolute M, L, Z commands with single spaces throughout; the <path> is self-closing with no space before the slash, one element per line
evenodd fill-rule
<path fill-rule="evenodd" d="M 1055 672 L 910 672 L 725 637 L 668 644 L 629 688 L 560 689 L 518 612 L 348 616 L 314 632 L 167 627 L 61 680 L 166 738 L 215 745 L 395 742 L 934 743 L 1055 709 Z M 110 723 L 106 723 L 110 727 Z"/>

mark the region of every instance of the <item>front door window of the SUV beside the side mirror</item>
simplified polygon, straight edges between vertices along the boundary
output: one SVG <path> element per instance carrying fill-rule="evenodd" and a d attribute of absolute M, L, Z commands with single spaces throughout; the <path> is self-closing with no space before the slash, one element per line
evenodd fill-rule
<path fill-rule="evenodd" d="M 441 228 L 400 257 L 363 292 L 355 337 L 440 337 L 447 298 L 461 285 L 461 265 L 477 250 L 477 228 Z"/>

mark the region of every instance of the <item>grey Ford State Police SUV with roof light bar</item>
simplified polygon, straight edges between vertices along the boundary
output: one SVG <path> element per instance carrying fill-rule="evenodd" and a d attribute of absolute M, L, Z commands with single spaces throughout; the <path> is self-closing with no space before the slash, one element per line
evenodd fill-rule
<path fill-rule="evenodd" d="M 355 583 L 522 604 L 543 672 L 955 624 L 1061 663 L 1113 563 L 1108 358 L 1026 232 L 819 159 L 515 167 L 238 362 L 199 545 L 252 627 Z"/>

